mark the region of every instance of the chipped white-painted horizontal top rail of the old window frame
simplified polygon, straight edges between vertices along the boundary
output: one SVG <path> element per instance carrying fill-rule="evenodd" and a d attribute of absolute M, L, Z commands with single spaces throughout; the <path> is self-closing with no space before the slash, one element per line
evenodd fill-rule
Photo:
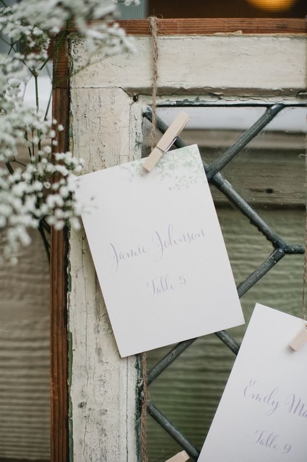
<path fill-rule="evenodd" d="M 88 55 L 82 40 L 72 46 L 73 88 L 121 87 L 150 93 L 151 38 L 135 37 L 136 53 Z M 306 88 L 305 35 L 210 35 L 158 37 L 159 94 L 296 95 Z"/>

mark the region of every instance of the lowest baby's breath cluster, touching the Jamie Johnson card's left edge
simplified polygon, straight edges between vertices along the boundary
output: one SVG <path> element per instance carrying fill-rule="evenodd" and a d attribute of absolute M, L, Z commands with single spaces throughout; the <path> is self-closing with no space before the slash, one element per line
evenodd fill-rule
<path fill-rule="evenodd" d="M 59 125 L 58 129 L 61 128 Z M 47 136 L 54 137 L 55 131 Z M 40 140 L 28 142 L 33 148 Z M 0 262 L 9 259 L 14 263 L 20 245 L 31 242 L 28 228 L 38 228 L 42 221 L 55 229 L 67 224 L 75 229 L 80 227 L 73 182 L 83 161 L 67 152 L 56 153 L 51 162 L 50 153 L 51 147 L 46 145 L 23 167 L 0 167 L 0 238 L 5 241 Z"/>

